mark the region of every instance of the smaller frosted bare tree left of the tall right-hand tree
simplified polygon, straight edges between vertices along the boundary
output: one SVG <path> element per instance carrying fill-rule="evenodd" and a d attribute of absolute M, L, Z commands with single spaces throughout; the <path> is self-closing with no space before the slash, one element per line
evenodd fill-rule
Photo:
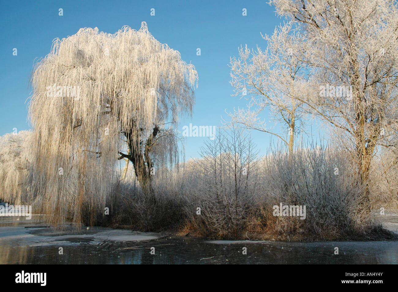
<path fill-rule="evenodd" d="M 239 58 L 233 57 L 231 64 L 231 85 L 235 95 L 242 94 L 249 100 L 247 109 L 238 109 L 230 114 L 232 121 L 241 123 L 249 129 L 255 129 L 280 138 L 293 151 L 294 136 L 302 127 L 302 101 L 306 94 L 306 64 L 297 56 L 300 52 L 300 33 L 292 29 L 292 23 L 275 29 L 270 37 L 263 36 L 268 43 L 267 49 L 257 51 L 239 49 Z M 300 86 L 304 84 L 304 86 Z M 246 97 L 245 95 L 248 95 Z M 285 127 L 284 134 L 267 129 L 261 114 L 269 109 L 272 118 Z M 287 134 L 286 134 L 287 133 Z"/>

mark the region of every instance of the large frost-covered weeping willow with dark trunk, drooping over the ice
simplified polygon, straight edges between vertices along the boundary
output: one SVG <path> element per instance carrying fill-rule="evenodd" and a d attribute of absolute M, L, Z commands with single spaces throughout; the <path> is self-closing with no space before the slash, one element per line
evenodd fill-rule
<path fill-rule="evenodd" d="M 176 128 L 192 115 L 196 82 L 195 67 L 145 22 L 138 31 L 83 28 L 55 39 L 35 64 L 29 105 L 36 203 L 51 222 L 80 223 L 87 208 L 104 206 L 122 159 L 154 198 L 154 170 L 178 162 Z"/>

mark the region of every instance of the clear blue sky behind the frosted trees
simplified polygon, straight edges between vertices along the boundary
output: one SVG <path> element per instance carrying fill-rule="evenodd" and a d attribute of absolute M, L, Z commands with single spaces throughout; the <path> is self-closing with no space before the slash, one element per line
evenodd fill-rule
<path fill-rule="evenodd" d="M 59 16 L 59 8 L 63 16 Z M 150 16 L 151 8 L 155 16 Z M 247 16 L 242 15 L 246 8 Z M 81 27 L 98 27 L 100 31 L 115 33 L 123 25 L 139 29 L 146 21 L 148 30 L 161 43 L 181 53 L 191 62 L 199 75 L 195 89 L 196 105 L 192 119 L 183 125 L 219 125 L 225 111 L 244 106 L 246 101 L 231 96 L 229 84 L 230 57 L 238 55 L 238 47 L 248 44 L 265 48 L 260 32 L 273 33 L 283 19 L 275 15 L 275 8 L 266 1 L 7 1 L 0 10 L 3 40 L 0 45 L 1 108 L 0 135 L 13 128 L 29 129 L 27 122 L 28 97 L 31 94 L 29 76 L 35 58 L 44 57 L 53 39 L 75 34 Z M 18 55 L 13 56 L 17 48 Z M 197 48 L 201 55 L 197 56 Z M 45 105 L 44 105 L 45 106 Z M 265 113 L 265 117 L 267 114 Z M 253 132 L 254 142 L 264 154 L 270 136 Z M 186 158 L 197 157 L 203 145 L 201 137 L 188 137 Z"/>

